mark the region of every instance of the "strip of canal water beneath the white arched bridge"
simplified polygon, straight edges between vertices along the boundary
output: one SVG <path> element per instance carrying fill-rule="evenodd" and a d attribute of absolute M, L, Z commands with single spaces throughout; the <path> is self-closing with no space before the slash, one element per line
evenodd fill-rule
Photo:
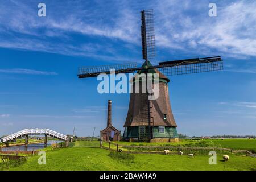
<path fill-rule="evenodd" d="M 50 146 L 52 143 L 60 143 L 63 141 L 59 140 L 49 140 L 47 141 L 47 146 Z M 33 151 L 44 148 L 44 143 L 36 143 L 36 144 L 28 144 L 26 146 L 10 146 L 10 147 L 2 147 L 2 151 Z"/>

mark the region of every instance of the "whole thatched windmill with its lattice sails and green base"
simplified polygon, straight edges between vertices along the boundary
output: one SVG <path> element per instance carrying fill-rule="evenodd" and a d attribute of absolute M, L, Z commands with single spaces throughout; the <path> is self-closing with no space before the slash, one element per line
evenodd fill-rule
<path fill-rule="evenodd" d="M 142 56 L 144 63 L 137 67 L 136 63 L 104 65 L 94 67 L 80 67 L 79 78 L 97 77 L 101 73 L 158 73 L 159 93 L 156 100 L 148 100 L 150 93 L 131 93 L 127 118 L 124 124 L 123 137 L 140 141 L 166 141 L 177 139 L 176 122 L 172 114 L 168 93 L 167 76 L 189 73 L 219 71 L 223 69 L 220 56 L 194 58 L 185 60 L 162 61 L 159 65 L 152 65 L 155 58 L 155 33 L 153 10 L 141 11 Z M 133 83 L 135 78 L 133 79 Z M 147 81 L 146 81 L 147 82 Z M 134 84 L 133 84 L 134 85 Z"/>

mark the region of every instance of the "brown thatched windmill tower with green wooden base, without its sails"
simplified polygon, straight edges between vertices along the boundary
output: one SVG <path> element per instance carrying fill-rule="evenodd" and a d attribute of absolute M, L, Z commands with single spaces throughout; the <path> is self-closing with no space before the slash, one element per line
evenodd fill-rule
<path fill-rule="evenodd" d="M 150 62 L 148 62 L 148 66 L 152 66 Z M 159 97 L 156 100 L 148 100 L 147 93 L 130 94 L 129 110 L 125 125 L 123 125 L 125 127 L 123 137 L 132 141 L 177 141 L 177 125 L 172 114 L 168 92 L 168 82 L 170 80 L 156 68 L 150 69 L 148 72 L 159 74 Z M 142 71 L 138 73 L 140 74 Z M 135 81 L 138 81 L 138 79 L 133 80 L 133 86 L 135 86 Z M 142 89 L 140 88 L 140 90 Z M 148 106 L 148 102 L 150 106 Z M 150 115 L 150 119 L 148 115 Z M 148 120 L 150 120 L 150 123 L 148 123 Z M 148 125 L 151 127 L 148 127 Z"/>

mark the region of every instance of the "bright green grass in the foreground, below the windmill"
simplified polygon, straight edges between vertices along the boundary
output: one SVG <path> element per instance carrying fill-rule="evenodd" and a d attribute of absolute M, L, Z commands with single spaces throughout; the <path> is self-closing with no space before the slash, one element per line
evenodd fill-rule
<path fill-rule="evenodd" d="M 46 151 L 46 165 L 39 165 L 39 156 L 32 156 L 26 163 L 9 170 L 256 170 L 256 158 L 234 154 L 229 154 L 228 162 L 222 162 L 222 154 L 217 155 L 217 164 L 210 165 L 208 155 L 189 158 L 187 155 L 130 154 L 132 156 L 119 158 L 86 142 Z"/>

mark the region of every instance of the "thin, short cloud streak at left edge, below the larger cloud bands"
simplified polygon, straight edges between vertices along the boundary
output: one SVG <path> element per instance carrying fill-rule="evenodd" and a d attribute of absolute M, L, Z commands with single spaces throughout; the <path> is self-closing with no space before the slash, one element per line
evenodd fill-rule
<path fill-rule="evenodd" d="M 27 74 L 27 75 L 58 75 L 56 72 L 46 72 L 46 71 L 38 71 L 34 69 L 0 69 L 0 73 L 18 73 L 18 74 Z"/>

